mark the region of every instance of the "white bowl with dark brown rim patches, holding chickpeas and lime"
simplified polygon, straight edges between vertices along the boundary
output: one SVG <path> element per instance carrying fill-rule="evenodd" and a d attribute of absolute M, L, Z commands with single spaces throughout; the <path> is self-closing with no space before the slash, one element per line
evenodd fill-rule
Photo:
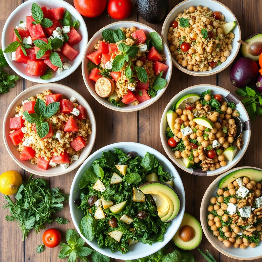
<path fill-rule="evenodd" d="M 172 106 L 176 104 L 176 102 L 183 96 L 187 95 L 187 94 L 198 94 L 200 95 L 203 91 L 206 91 L 208 89 L 211 89 L 211 94 L 215 95 L 215 94 L 220 94 L 222 95 L 222 97 L 228 101 L 228 102 L 233 102 L 236 104 L 236 107 L 234 108 L 234 110 L 238 110 L 240 113 L 240 119 L 242 120 L 243 123 L 243 141 L 244 141 L 244 145 L 242 146 L 241 150 L 237 151 L 236 156 L 234 157 L 233 161 L 226 161 L 227 165 L 225 167 L 220 167 L 219 169 L 216 169 L 214 171 L 202 171 L 202 168 L 199 169 L 193 169 L 193 168 L 187 168 L 185 167 L 182 158 L 176 159 L 174 156 L 174 151 L 170 148 L 170 146 L 167 144 L 167 139 L 166 139 L 166 128 L 168 127 L 167 124 L 167 120 L 166 120 L 166 112 L 168 110 L 172 110 Z M 170 102 L 167 104 L 163 114 L 162 114 L 162 118 L 161 118 L 161 122 L 160 122 L 160 138 L 161 138 L 161 142 L 163 145 L 163 148 L 165 149 L 167 155 L 169 156 L 169 158 L 181 169 L 183 169 L 184 171 L 191 173 L 191 174 L 195 174 L 195 175 L 199 175 L 199 176 L 215 176 L 215 175 L 219 175 L 223 172 L 226 172 L 227 170 L 229 170 L 230 168 L 232 168 L 234 165 L 236 165 L 238 163 L 238 161 L 243 157 L 243 155 L 245 154 L 245 151 L 247 150 L 249 141 L 250 141 L 250 134 L 251 134 L 251 125 L 250 125 L 250 120 L 249 120 L 249 116 L 247 114 L 247 111 L 245 110 L 245 107 L 243 106 L 243 104 L 239 101 L 239 99 L 232 94 L 230 91 L 220 87 L 220 86 L 215 86 L 215 85 L 193 85 L 190 86 L 184 90 L 182 90 L 181 92 L 179 92 L 177 95 L 175 95 Z"/>

